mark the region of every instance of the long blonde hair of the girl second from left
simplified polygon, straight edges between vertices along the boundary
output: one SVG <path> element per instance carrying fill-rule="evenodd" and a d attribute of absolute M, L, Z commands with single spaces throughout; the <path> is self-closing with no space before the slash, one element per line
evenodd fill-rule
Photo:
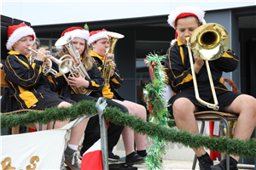
<path fill-rule="evenodd" d="M 82 64 L 84 65 L 84 68 L 86 71 L 89 71 L 92 66 L 93 66 L 93 59 L 90 57 L 90 53 L 89 53 L 89 47 L 87 45 L 87 41 L 84 39 L 85 41 L 85 47 L 84 47 L 84 52 L 83 54 L 81 54 L 82 56 Z M 59 53 L 56 54 L 56 56 L 63 56 L 63 55 L 66 55 L 66 54 L 69 54 L 67 48 L 63 47 L 61 49 L 61 51 Z"/>

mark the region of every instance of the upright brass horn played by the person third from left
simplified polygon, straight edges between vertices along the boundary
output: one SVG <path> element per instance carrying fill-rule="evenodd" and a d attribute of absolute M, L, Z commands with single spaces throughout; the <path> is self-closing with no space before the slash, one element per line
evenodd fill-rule
<path fill-rule="evenodd" d="M 108 54 L 113 54 L 113 49 L 115 47 L 116 42 L 119 40 L 119 38 L 125 37 L 122 34 L 112 32 L 112 31 L 106 31 L 106 34 L 108 35 L 108 38 L 109 38 L 109 48 L 106 50 L 104 65 L 102 69 L 102 78 L 104 78 L 105 86 L 108 85 L 111 77 L 112 69 L 113 67 L 115 67 L 115 63 L 113 61 L 109 62 L 107 65 Z"/>

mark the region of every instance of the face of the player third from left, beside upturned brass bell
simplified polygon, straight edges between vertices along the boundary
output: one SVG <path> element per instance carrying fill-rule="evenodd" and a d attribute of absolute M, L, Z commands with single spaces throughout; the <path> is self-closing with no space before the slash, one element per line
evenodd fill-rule
<path fill-rule="evenodd" d="M 109 40 L 107 38 L 102 38 L 96 42 L 92 42 L 91 46 L 96 54 L 104 57 L 106 50 L 109 48 Z"/>

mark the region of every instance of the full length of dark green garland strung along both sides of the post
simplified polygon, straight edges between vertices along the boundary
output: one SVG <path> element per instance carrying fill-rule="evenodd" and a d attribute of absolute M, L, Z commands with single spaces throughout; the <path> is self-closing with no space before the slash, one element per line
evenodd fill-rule
<path fill-rule="evenodd" d="M 51 121 L 64 121 L 68 118 L 96 114 L 96 102 L 80 101 L 78 104 L 66 108 L 50 108 L 44 112 L 29 111 L 26 115 L 0 115 L 0 128 L 25 126 L 36 122 L 48 123 Z M 180 143 L 186 147 L 199 148 L 204 146 L 210 150 L 218 150 L 235 156 L 256 158 L 256 139 L 238 140 L 227 138 L 209 138 L 201 134 L 191 134 L 187 131 L 177 130 L 175 127 L 161 126 L 152 122 L 144 122 L 142 118 L 131 116 L 116 107 L 107 106 L 103 112 L 110 122 L 117 125 L 128 126 L 137 133 L 147 134 L 153 138 L 157 136 L 166 142 Z M 168 122 L 169 123 L 169 122 Z M 174 126 L 173 122 L 170 122 Z"/>

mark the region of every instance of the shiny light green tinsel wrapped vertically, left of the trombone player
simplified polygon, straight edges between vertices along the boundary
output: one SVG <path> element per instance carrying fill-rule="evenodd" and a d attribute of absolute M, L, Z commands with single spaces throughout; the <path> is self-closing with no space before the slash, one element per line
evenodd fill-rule
<path fill-rule="evenodd" d="M 161 60 L 165 58 L 159 54 L 148 54 L 145 59 L 145 64 L 148 65 L 151 70 L 154 81 L 147 84 L 143 89 L 145 95 L 145 101 L 147 109 L 149 110 L 149 119 L 154 118 L 155 123 L 159 123 L 162 126 L 168 127 L 168 111 L 167 102 L 163 96 L 166 85 L 166 74 L 164 68 L 161 65 Z M 148 156 L 145 161 L 148 169 L 162 169 L 162 159 L 166 155 L 167 143 L 164 139 L 159 139 L 158 136 L 152 138 L 153 144 L 147 151 Z"/>

